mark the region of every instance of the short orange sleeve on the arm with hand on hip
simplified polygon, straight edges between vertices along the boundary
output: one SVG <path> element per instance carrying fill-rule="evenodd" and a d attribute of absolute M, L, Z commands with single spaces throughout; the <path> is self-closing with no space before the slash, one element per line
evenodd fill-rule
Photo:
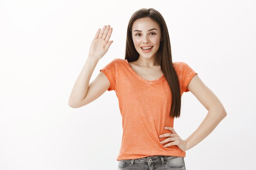
<path fill-rule="evenodd" d="M 181 77 L 182 77 L 182 91 L 188 92 L 189 89 L 186 86 L 189 84 L 190 80 L 194 75 L 198 75 L 188 64 L 182 62 L 181 66 Z"/>

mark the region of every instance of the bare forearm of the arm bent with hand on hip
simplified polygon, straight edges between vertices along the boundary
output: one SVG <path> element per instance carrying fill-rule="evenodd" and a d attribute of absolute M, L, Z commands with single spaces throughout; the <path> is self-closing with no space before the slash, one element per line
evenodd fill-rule
<path fill-rule="evenodd" d="M 186 141 L 186 150 L 193 148 L 206 138 L 216 126 L 227 115 L 225 109 L 209 109 L 207 116 L 204 118 L 200 126 L 193 132 Z"/>

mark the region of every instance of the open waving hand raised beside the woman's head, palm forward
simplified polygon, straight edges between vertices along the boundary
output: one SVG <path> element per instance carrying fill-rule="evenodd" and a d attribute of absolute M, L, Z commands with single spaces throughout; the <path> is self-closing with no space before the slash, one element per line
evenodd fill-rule
<path fill-rule="evenodd" d="M 103 29 L 98 29 L 94 39 L 92 40 L 92 44 L 90 46 L 89 57 L 94 57 L 96 59 L 101 59 L 103 55 L 108 51 L 109 46 L 113 41 L 109 41 L 112 28 L 110 25 L 103 26 Z"/>

